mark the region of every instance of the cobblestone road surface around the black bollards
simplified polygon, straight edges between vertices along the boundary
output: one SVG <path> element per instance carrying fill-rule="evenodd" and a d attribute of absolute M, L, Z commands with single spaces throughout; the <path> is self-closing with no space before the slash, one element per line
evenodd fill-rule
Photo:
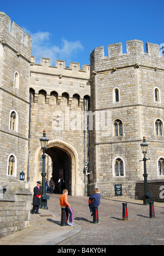
<path fill-rule="evenodd" d="M 49 210 L 61 213 L 60 195 L 50 195 Z M 149 206 L 142 201 L 101 199 L 99 224 L 92 224 L 88 197 L 68 196 L 74 211 L 74 223 L 82 227 L 75 236 L 59 245 L 164 245 L 164 203 L 154 203 L 155 218 L 149 218 Z M 128 221 L 122 221 L 122 202 L 127 202 Z"/>

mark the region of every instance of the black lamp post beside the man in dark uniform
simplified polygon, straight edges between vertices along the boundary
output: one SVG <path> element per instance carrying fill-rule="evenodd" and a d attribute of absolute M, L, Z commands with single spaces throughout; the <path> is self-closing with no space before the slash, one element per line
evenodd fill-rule
<path fill-rule="evenodd" d="M 47 200 L 49 199 L 49 196 L 46 195 L 46 188 L 45 188 L 45 150 L 48 144 L 49 138 L 46 137 L 45 131 L 43 131 L 43 137 L 40 138 L 41 148 L 43 149 L 43 155 L 42 155 L 42 161 L 43 161 L 43 171 L 42 171 L 42 199 L 41 199 L 41 208 L 44 210 L 48 210 L 47 207 Z"/>

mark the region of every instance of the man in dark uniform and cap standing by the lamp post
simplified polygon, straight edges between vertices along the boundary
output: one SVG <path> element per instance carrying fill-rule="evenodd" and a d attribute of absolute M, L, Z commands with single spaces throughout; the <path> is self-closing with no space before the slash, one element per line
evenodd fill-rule
<path fill-rule="evenodd" d="M 33 195 L 33 208 L 31 211 L 32 214 L 34 214 L 34 213 L 40 214 L 38 212 L 39 206 L 41 204 L 41 197 L 42 197 L 42 189 L 40 188 L 40 184 L 41 184 L 41 182 L 38 181 L 37 187 L 34 187 L 34 189 L 33 189 L 34 195 Z"/>

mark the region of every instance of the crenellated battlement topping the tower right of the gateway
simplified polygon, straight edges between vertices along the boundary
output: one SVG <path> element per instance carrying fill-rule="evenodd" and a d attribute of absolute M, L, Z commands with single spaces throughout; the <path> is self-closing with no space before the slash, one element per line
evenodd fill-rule
<path fill-rule="evenodd" d="M 145 53 L 142 41 L 130 40 L 126 42 L 126 50 L 126 53 L 122 52 L 122 43 L 110 44 L 108 45 L 108 56 L 104 56 L 103 46 L 95 48 L 90 55 L 91 72 L 133 66 L 136 63 L 150 67 L 154 67 L 156 63 L 159 69 L 163 69 L 164 54 L 160 55 L 159 45 L 147 43 Z"/>

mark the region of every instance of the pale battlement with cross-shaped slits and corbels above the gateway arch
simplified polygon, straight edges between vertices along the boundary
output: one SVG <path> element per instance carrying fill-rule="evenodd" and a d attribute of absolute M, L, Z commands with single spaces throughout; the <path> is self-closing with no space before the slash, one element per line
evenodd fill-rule
<path fill-rule="evenodd" d="M 51 66 L 51 59 L 40 59 L 40 64 L 35 63 L 31 57 L 30 85 L 34 90 L 34 103 L 38 102 L 39 92 L 44 90 L 45 103 L 49 104 L 51 95 L 57 95 L 57 106 L 60 106 L 62 95 L 67 94 L 68 106 L 71 106 L 73 95 L 79 97 L 79 107 L 83 104 L 85 95 L 90 96 L 90 65 L 71 62 L 66 67 L 66 62 L 56 60 L 56 66 Z"/>

